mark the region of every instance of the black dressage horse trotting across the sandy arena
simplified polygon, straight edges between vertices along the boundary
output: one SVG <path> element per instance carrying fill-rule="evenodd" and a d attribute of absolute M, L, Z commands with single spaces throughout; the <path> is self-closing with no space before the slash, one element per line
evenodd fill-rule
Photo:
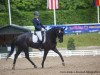
<path fill-rule="evenodd" d="M 16 59 L 18 55 L 23 51 L 25 53 L 25 57 L 31 62 L 32 65 L 34 65 L 34 68 L 37 68 L 34 62 L 31 61 L 29 58 L 29 47 L 39 49 L 41 48 L 41 44 L 39 43 L 34 43 L 32 41 L 32 35 L 34 33 L 24 33 L 19 35 L 11 44 L 11 51 L 9 52 L 7 59 L 12 55 L 14 52 L 14 48 L 17 47 L 18 50 L 16 50 L 16 54 L 14 57 L 13 61 L 13 67 L 12 69 L 15 69 L 15 64 L 16 64 Z M 43 61 L 42 61 L 42 68 L 44 67 L 44 61 L 46 59 L 46 56 L 50 50 L 53 50 L 56 52 L 61 60 L 62 60 L 62 65 L 64 66 L 64 59 L 61 55 L 61 53 L 57 50 L 56 45 L 57 45 L 57 39 L 59 42 L 63 42 L 63 35 L 64 35 L 64 29 L 60 27 L 54 27 L 51 28 L 50 30 L 45 32 L 45 42 L 43 42 L 42 48 L 44 49 L 44 56 L 43 56 Z"/>

